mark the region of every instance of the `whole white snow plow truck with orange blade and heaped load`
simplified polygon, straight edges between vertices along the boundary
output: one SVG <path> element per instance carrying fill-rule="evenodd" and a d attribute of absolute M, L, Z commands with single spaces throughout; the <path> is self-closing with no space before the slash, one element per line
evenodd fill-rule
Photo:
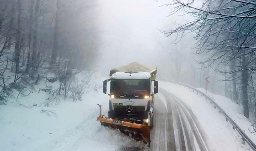
<path fill-rule="evenodd" d="M 101 125 L 118 128 L 136 141 L 150 146 L 153 128 L 153 99 L 158 93 L 155 81 L 157 68 L 148 68 L 137 62 L 110 70 L 109 79 L 103 81 L 103 93 L 109 95 L 107 117 L 101 114 Z"/>

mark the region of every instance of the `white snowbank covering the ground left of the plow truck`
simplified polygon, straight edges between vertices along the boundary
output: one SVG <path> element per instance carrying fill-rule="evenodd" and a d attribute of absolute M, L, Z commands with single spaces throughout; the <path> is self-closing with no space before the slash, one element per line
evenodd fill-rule
<path fill-rule="evenodd" d="M 99 79 L 98 79 L 99 80 Z M 103 81 L 103 79 L 100 79 Z M 58 83 L 48 83 L 52 88 Z M 107 143 L 109 147 L 114 143 L 107 142 L 105 136 L 118 134 L 117 132 L 103 130 L 96 121 L 99 114 L 97 103 L 108 108 L 108 96 L 101 91 L 91 91 L 82 96 L 82 101 L 76 103 L 67 99 L 57 98 L 50 107 L 44 102 L 52 95 L 49 92 L 39 91 L 45 89 L 45 81 L 35 87 L 33 93 L 27 97 L 14 91 L 14 97 L 9 98 L 7 105 L 0 106 L 0 150 L 1 151 L 28 151 L 28 150 L 63 150 L 68 149 L 79 137 L 87 136 L 87 149 Z M 39 91 L 39 93 L 38 93 Z M 27 94 L 28 92 L 26 92 Z M 60 101 L 59 101 L 60 100 Z M 36 106 L 34 106 L 36 105 Z M 98 138 L 97 131 L 103 131 Z M 123 135 L 119 134 L 121 137 Z M 96 142 L 95 142 L 96 141 Z"/>

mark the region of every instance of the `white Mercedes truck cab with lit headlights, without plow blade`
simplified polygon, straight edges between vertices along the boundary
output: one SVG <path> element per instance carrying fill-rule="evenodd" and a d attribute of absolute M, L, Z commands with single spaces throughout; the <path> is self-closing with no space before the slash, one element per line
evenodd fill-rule
<path fill-rule="evenodd" d="M 103 81 L 103 93 L 109 95 L 108 118 L 134 119 L 138 124 L 151 121 L 153 95 L 158 93 L 158 82 L 151 79 L 152 74 L 113 69 L 109 76 Z M 153 127 L 153 120 L 150 124 Z"/>

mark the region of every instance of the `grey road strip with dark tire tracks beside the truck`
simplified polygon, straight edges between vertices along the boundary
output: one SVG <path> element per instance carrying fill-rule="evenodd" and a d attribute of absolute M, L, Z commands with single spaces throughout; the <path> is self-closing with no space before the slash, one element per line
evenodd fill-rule
<path fill-rule="evenodd" d="M 167 105 L 171 105 L 175 119 L 173 123 L 177 124 L 177 129 L 175 128 L 176 149 L 181 151 L 208 151 L 208 146 L 204 141 L 204 133 L 197 126 L 199 124 L 192 111 L 177 97 L 167 91 L 164 92 L 165 97 L 169 97 L 169 99 L 167 98 Z"/>

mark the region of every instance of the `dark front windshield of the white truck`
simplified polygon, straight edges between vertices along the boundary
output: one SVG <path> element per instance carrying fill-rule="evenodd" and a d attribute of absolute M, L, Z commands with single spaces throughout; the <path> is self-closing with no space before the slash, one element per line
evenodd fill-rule
<path fill-rule="evenodd" d="M 145 94 L 150 93 L 149 79 L 112 79 L 110 93 Z"/>

